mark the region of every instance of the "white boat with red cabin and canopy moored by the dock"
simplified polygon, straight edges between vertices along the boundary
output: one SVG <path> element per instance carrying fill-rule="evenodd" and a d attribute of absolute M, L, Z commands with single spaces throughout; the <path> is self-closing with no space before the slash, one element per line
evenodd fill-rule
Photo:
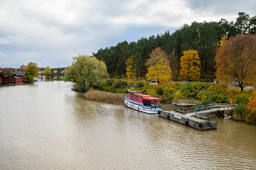
<path fill-rule="evenodd" d="M 125 96 L 124 103 L 128 108 L 148 114 L 159 114 L 161 107 L 158 105 L 161 98 L 144 95 L 140 91 L 129 91 L 129 97 Z"/>

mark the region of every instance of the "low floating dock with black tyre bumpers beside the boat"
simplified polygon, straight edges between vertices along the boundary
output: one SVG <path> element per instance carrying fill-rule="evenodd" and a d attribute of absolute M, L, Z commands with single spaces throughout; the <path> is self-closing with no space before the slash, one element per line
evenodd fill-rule
<path fill-rule="evenodd" d="M 183 125 L 190 126 L 191 128 L 195 128 L 198 130 L 217 129 L 217 117 L 216 120 L 211 121 L 209 117 L 204 117 L 200 115 L 196 117 L 188 117 L 182 113 L 177 113 L 175 111 L 161 111 L 159 116 L 175 122 L 179 122 Z"/>

